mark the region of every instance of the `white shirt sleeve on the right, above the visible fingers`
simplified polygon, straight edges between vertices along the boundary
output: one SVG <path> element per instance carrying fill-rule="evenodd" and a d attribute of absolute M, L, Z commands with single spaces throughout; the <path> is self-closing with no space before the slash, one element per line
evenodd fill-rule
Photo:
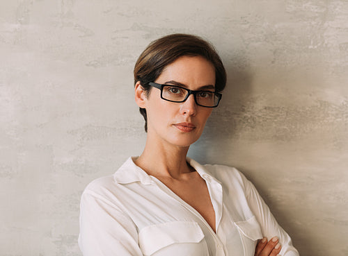
<path fill-rule="evenodd" d="M 253 214 L 255 214 L 258 223 L 260 223 L 262 234 L 264 234 L 267 239 L 271 239 L 272 237 L 279 238 L 279 243 L 282 246 L 279 253 L 280 255 L 299 256 L 299 252 L 294 248 L 294 246 L 292 246 L 289 234 L 287 234 L 287 232 L 285 232 L 285 230 L 283 230 L 283 228 L 281 228 L 277 223 L 273 214 L 271 214 L 269 207 L 264 203 L 264 200 L 261 198 L 254 185 L 244 176 L 243 178 L 249 207 Z"/>

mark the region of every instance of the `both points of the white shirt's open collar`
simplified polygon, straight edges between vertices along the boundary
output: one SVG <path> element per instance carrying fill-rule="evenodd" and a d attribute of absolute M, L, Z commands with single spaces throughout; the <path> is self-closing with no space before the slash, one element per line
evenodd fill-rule
<path fill-rule="evenodd" d="M 116 182 L 120 184 L 128 184 L 132 182 L 141 182 L 144 185 L 155 184 L 151 176 L 148 175 L 143 169 L 134 164 L 134 159 L 136 157 L 129 157 L 124 164 L 113 174 L 113 178 Z M 200 177 L 202 177 L 206 182 L 217 182 L 221 184 L 219 180 L 216 180 L 207 169 L 191 159 L 190 157 L 186 158 L 187 162 L 195 169 Z"/>

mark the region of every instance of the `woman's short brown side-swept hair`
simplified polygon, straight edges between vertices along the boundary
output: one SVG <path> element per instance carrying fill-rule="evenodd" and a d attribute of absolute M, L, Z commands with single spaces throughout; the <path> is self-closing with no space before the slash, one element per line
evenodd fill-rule
<path fill-rule="evenodd" d="M 215 90 L 221 92 L 226 86 L 226 70 L 214 46 L 196 35 L 172 34 L 151 42 L 141 53 L 134 66 L 134 85 L 140 81 L 149 94 L 150 85 L 161 75 L 163 69 L 182 56 L 202 56 L 212 62 L 215 68 Z M 145 131 L 148 131 L 148 119 L 145 108 L 139 108 L 145 119 Z"/>

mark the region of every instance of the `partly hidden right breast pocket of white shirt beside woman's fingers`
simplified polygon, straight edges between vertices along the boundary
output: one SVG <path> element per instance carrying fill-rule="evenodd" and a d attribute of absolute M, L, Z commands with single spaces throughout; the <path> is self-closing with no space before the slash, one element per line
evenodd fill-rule
<path fill-rule="evenodd" d="M 235 222 L 244 248 L 244 256 L 253 256 L 258 239 L 262 239 L 260 224 L 255 216 L 246 221 Z"/>

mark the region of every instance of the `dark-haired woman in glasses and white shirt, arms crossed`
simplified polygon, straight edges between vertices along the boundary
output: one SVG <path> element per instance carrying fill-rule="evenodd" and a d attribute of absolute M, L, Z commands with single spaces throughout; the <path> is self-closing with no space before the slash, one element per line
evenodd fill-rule
<path fill-rule="evenodd" d="M 145 148 L 86 187 L 84 255 L 299 255 L 242 173 L 187 157 L 226 85 L 214 48 L 193 35 L 161 37 L 141 53 L 134 82 Z"/>

